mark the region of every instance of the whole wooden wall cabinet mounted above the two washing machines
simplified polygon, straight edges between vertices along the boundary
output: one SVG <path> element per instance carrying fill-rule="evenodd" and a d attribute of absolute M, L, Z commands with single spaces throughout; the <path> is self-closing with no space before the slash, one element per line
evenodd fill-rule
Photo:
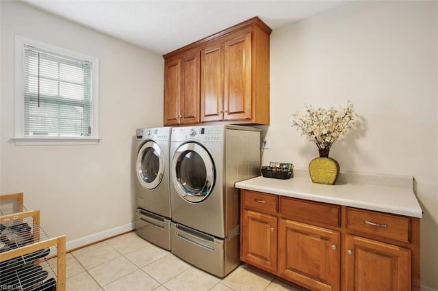
<path fill-rule="evenodd" d="M 271 31 L 255 17 L 164 55 L 164 125 L 222 121 L 269 124 Z M 190 92 L 177 98 L 187 86 L 182 58 L 188 51 L 198 55 L 197 73 L 189 72 L 190 77 L 196 76 L 196 80 L 189 78 L 190 85 L 196 88 L 190 87 Z M 177 60 L 181 62 L 181 68 L 175 68 L 180 78 L 170 70 Z M 192 95 L 189 97 L 188 93 Z M 196 111 L 188 112 L 188 118 L 184 117 L 183 105 L 178 105 L 184 99 Z M 197 102 L 196 106 L 193 102 Z"/>

